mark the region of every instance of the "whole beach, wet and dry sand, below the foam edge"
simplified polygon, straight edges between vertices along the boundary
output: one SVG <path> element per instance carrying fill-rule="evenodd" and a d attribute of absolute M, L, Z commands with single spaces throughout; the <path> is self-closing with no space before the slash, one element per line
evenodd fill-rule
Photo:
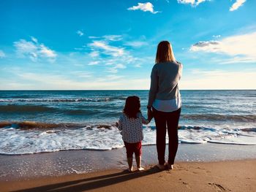
<path fill-rule="evenodd" d="M 256 146 L 207 145 L 180 145 L 175 169 L 162 172 L 154 145 L 143 147 L 146 170 L 132 173 L 124 148 L 1 155 L 1 191 L 256 190 Z"/>

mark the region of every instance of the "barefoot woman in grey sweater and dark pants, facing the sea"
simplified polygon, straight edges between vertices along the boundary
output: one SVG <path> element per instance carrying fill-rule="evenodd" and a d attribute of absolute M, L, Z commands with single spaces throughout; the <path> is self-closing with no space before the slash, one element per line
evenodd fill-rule
<path fill-rule="evenodd" d="M 178 150 L 178 120 L 181 114 L 181 94 L 178 81 L 181 79 L 182 64 L 176 61 L 169 42 L 159 42 L 156 64 L 151 72 L 148 95 L 148 116 L 153 113 L 157 128 L 157 155 L 159 169 L 173 169 Z M 165 162 L 166 129 L 169 136 L 169 156 Z"/>

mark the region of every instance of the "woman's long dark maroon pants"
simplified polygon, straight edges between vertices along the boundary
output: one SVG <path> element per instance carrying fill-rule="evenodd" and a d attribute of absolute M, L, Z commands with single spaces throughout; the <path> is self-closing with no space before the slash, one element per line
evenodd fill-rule
<path fill-rule="evenodd" d="M 174 112 L 161 112 L 153 107 L 153 115 L 157 128 L 157 155 L 159 164 L 165 164 L 166 129 L 169 136 L 168 163 L 174 164 L 178 150 L 178 120 L 181 115 L 181 108 Z"/>

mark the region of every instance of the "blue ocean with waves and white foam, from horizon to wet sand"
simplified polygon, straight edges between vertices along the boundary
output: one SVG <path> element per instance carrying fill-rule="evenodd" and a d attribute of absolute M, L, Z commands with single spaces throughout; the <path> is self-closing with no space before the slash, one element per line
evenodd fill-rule
<path fill-rule="evenodd" d="M 0 154 L 124 147 L 115 123 L 127 96 L 148 91 L 0 91 Z M 181 145 L 256 145 L 256 91 L 181 91 Z M 155 145 L 154 120 L 143 145 Z"/>

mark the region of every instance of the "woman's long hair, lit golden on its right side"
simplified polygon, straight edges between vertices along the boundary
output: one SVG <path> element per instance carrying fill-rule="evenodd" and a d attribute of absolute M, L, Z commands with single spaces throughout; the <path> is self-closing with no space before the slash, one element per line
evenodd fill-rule
<path fill-rule="evenodd" d="M 170 42 L 162 41 L 157 46 L 156 64 L 165 63 L 167 61 L 176 61 L 172 45 Z"/>

